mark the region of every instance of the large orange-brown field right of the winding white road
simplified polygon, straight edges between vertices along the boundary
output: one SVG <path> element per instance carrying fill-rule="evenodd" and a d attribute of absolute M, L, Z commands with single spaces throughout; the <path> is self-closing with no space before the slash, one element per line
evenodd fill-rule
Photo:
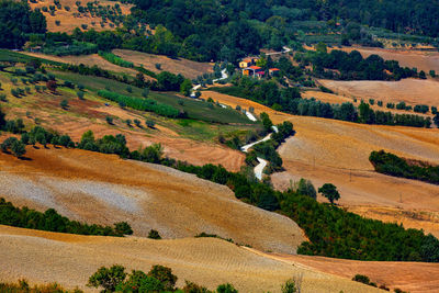
<path fill-rule="evenodd" d="M 257 113 L 269 113 L 274 123 L 294 124 L 296 135 L 279 149 L 286 171 L 272 176 L 274 187 L 286 189 L 290 181 L 300 178 L 312 180 L 316 188 L 331 182 L 341 193 L 340 204 L 352 212 L 402 222 L 407 227 L 423 227 L 439 236 L 439 187 L 376 173 L 369 162 L 372 150 L 385 149 L 406 158 L 439 164 L 438 129 L 293 116 L 212 91 L 203 95 L 232 106 L 254 106 Z"/>

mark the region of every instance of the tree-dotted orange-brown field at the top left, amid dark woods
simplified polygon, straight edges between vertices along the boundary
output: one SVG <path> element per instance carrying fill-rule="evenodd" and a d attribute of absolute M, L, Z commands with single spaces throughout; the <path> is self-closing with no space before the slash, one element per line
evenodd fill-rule
<path fill-rule="evenodd" d="M 49 32 L 60 32 L 60 33 L 71 33 L 76 27 L 80 27 L 82 24 L 86 24 L 88 29 L 93 29 L 94 31 L 108 31 L 115 30 L 116 26 L 110 25 L 110 22 L 103 23 L 104 26 L 101 25 L 102 18 L 100 16 L 91 16 L 90 13 L 78 13 L 78 7 L 76 5 L 77 0 L 60 0 L 61 9 L 56 9 L 55 14 L 52 15 L 49 12 L 42 13 L 46 16 L 47 20 L 47 31 Z M 81 1 L 80 1 L 81 2 Z M 99 0 L 99 5 L 110 5 L 114 7 L 114 1 Z M 53 1 L 48 0 L 38 0 L 36 3 L 29 2 L 31 9 L 53 5 Z M 81 5 L 86 5 L 87 2 L 82 1 Z M 132 5 L 119 3 L 122 10 L 122 14 L 130 14 L 130 9 Z M 67 11 L 65 7 L 69 7 L 70 10 Z M 74 13 L 78 13 L 79 15 L 75 15 Z M 59 25 L 56 24 L 55 21 L 59 21 Z"/>

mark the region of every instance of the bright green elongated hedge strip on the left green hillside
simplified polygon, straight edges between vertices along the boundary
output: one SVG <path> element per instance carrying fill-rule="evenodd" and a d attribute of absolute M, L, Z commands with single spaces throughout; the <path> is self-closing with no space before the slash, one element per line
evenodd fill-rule
<path fill-rule="evenodd" d="M 158 104 L 154 100 L 148 99 L 138 99 L 127 95 L 122 95 L 115 92 L 100 90 L 98 94 L 102 98 L 111 100 L 113 102 L 124 102 L 126 106 L 140 110 L 140 111 L 149 111 L 155 112 L 159 115 L 167 116 L 167 117 L 177 117 L 179 115 L 179 111 L 173 106 L 167 104 Z"/>

